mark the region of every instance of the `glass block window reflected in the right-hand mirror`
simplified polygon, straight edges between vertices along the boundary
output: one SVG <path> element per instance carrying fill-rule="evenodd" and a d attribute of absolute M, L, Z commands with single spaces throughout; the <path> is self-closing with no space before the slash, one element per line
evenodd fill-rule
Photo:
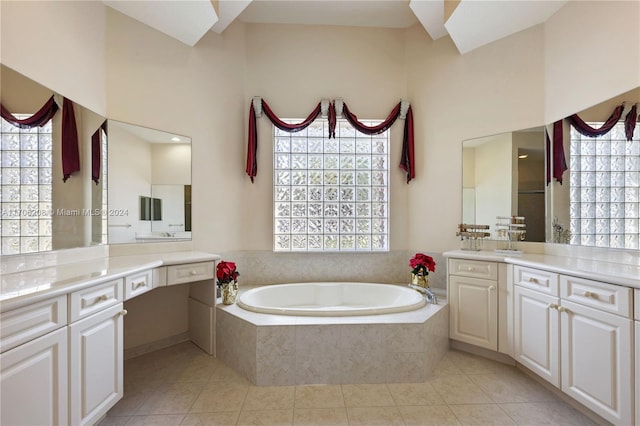
<path fill-rule="evenodd" d="M 600 127 L 602 123 L 589 123 Z M 590 138 L 571 128 L 571 244 L 640 248 L 640 131 Z"/>

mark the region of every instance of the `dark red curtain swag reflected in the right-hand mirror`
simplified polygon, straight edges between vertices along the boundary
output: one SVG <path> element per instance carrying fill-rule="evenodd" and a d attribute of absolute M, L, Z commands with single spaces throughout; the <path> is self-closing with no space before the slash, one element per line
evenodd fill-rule
<path fill-rule="evenodd" d="M 613 129 L 613 126 L 622 117 L 624 111 L 624 103 L 618 105 L 613 113 L 607 118 L 600 128 L 596 129 L 588 125 L 578 114 L 573 114 L 567 117 L 567 121 L 571 124 L 581 135 L 596 138 L 598 136 L 606 135 Z M 638 122 L 638 109 L 637 104 L 634 104 L 627 115 L 624 118 L 624 132 L 627 141 L 633 139 L 633 132 Z M 552 152 L 553 155 L 553 177 L 562 184 L 562 174 L 567 170 L 567 162 L 564 155 L 564 134 L 562 131 L 562 120 L 553 123 L 553 151 L 550 151 L 549 135 L 547 135 L 547 152 Z M 550 170 L 550 157 L 547 156 L 547 184 L 551 182 L 551 170 Z"/>

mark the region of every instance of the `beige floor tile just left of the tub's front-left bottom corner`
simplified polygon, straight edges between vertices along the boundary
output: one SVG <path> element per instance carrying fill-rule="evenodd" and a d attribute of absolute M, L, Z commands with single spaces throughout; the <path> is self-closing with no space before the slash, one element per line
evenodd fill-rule
<path fill-rule="evenodd" d="M 209 382 L 193 402 L 190 413 L 240 411 L 249 386 L 236 382 Z"/>

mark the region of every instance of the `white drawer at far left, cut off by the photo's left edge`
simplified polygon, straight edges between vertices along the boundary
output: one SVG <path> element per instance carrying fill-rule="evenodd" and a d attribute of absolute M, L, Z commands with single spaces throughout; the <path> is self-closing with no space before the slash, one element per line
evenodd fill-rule
<path fill-rule="evenodd" d="M 0 315 L 0 352 L 67 324 L 67 296 L 34 303 Z"/>

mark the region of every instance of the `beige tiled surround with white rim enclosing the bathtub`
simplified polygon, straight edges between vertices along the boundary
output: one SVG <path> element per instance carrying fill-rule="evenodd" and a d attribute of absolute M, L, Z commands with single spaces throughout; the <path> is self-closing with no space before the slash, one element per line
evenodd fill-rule
<path fill-rule="evenodd" d="M 424 382 L 449 349 L 448 309 L 444 297 L 410 312 L 323 318 L 218 304 L 216 355 L 260 386 Z"/>

